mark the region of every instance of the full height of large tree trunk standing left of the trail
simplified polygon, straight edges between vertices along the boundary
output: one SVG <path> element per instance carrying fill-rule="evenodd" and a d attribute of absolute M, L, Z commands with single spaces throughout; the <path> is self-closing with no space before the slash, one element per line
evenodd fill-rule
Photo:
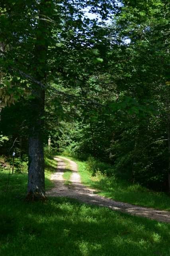
<path fill-rule="evenodd" d="M 41 0 L 39 4 L 39 23 L 37 28 L 37 41 L 34 47 L 33 70 L 35 80 L 45 83 L 47 50 L 49 40 L 48 24 L 41 17 L 46 16 L 49 11 L 50 2 Z M 32 85 L 32 96 L 30 100 L 30 125 L 29 125 L 29 167 L 28 167 L 28 194 L 27 200 L 45 199 L 45 177 L 44 177 L 44 150 L 43 150 L 43 128 L 44 128 L 44 105 L 45 88 L 38 84 Z"/>

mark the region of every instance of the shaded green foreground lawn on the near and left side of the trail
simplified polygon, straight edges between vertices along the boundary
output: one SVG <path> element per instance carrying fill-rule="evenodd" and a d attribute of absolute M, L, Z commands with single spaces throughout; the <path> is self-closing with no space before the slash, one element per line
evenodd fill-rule
<path fill-rule="evenodd" d="M 56 162 L 46 166 L 48 177 Z M 67 198 L 25 202 L 27 175 L 11 175 L 5 192 L 6 175 L 0 172 L 0 256 L 170 255 L 170 224 Z"/>

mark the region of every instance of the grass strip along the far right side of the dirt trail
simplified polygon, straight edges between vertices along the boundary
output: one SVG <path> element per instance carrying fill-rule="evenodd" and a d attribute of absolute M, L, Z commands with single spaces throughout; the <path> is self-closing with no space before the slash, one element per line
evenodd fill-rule
<path fill-rule="evenodd" d="M 67 156 L 68 157 L 68 156 Z M 68 157 L 70 158 L 70 157 Z M 75 160 L 73 158 L 70 158 Z M 154 192 L 139 184 L 131 184 L 125 180 L 102 175 L 92 176 L 88 163 L 75 160 L 84 185 L 98 190 L 98 194 L 117 201 L 134 205 L 152 207 L 160 210 L 170 210 L 170 196 L 163 192 Z M 104 165 L 104 163 L 102 163 Z M 106 164 L 106 168 L 107 168 Z"/>

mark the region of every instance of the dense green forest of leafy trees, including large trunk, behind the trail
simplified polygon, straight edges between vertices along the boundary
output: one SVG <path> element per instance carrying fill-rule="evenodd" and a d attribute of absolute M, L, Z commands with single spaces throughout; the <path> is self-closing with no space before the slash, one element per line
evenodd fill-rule
<path fill-rule="evenodd" d="M 45 196 L 49 136 L 51 151 L 170 190 L 169 1 L 2 0 L 0 12 L 0 152 L 29 158 L 28 196 Z"/>

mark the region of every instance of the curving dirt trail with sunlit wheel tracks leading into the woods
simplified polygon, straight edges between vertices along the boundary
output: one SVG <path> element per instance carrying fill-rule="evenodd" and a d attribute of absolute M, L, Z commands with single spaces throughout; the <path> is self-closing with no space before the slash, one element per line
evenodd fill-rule
<path fill-rule="evenodd" d="M 75 198 L 87 204 L 105 206 L 112 210 L 118 210 L 132 215 L 147 217 L 162 222 L 170 222 L 170 212 L 117 202 L 104 196 L 94 194 L 96 190 L 81 184 L 80 175 L 77 172 L 77 164 L 74 161 L 61 156 L 55 157 L 54 159 L 58 162 L 57 172 L 51 176 L 51 180 L 55 183 L 55 188 L 47 192 L 48 196 L 66 196 Z M 70 178 L 70 181 L 72 182 L 71 187 L 64 185 L 63 173 L 66 164 L 63 160 L 68 161 L 70 169 L 73 171 Z"/>

